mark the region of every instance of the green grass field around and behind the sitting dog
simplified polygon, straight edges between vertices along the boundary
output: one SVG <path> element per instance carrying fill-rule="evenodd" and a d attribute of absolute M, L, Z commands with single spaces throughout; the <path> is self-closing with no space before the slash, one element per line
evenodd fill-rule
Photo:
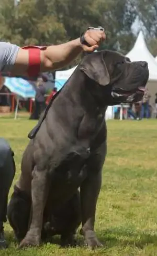
<path fill-rule="evenodd" d="M 36 122 L 0 118 L 1 136 L 15 151 L 17 173 L 27 134 Z M 57 244 L 17 250 L 6 223 L 10 243 L 1 256 L 132 256 L 157 255 L 157 120 L 108 121 L 108 153 L 98 200 L 96 232 L 104 247 L 60 249 Z M 10 190 L 12 194 L 13 188 Z M 55 240 L 54 240 L 55 241 Z"/>

